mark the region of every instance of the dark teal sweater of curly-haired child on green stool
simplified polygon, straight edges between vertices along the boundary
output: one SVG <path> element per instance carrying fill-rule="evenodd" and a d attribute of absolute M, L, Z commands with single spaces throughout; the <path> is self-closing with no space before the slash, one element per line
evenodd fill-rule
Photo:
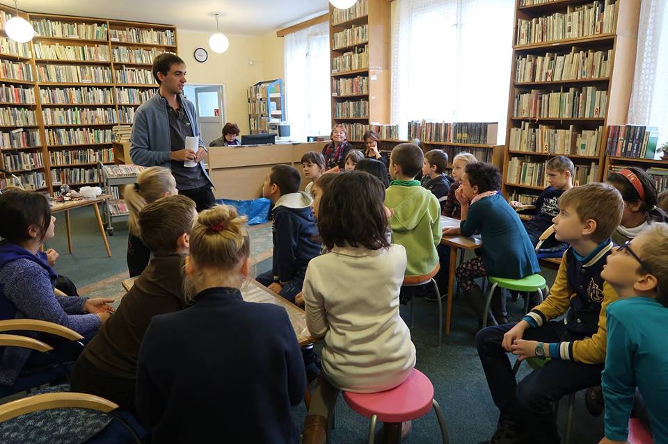
<path fill-rule="evenodd" d="M 482 263 L 489 276 L 520 279 L 541 271 L 522 221 L 501 195 L 472 204 L 459 227 L 464 236 L 480 233 Z"/>

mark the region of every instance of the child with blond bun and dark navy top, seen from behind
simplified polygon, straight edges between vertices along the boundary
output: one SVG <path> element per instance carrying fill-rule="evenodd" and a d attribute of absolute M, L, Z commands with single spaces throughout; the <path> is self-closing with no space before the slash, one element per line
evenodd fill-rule
<path fill-rule="evenodd" d="M 155 316 L 137 363 L 138 416 L 154 443 L 297 443 L 306 378 L 285 309 L 244 302 L 250 240 L 232 206 L 202 211 L 181 311 Z"/>

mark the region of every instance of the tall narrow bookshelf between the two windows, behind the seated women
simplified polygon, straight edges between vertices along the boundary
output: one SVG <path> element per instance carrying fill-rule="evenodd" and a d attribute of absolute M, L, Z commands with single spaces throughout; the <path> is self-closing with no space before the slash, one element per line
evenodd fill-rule
<path fill-rule="evenodd" d="M 390 3 L 330 5 L 332 124 L 390 120 Z"/>

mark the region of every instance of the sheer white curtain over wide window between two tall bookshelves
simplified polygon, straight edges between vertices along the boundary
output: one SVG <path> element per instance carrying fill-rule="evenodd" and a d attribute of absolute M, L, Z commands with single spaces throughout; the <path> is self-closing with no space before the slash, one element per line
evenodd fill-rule
<path fill-rule="evenodd" d="M 512 0 L 397 0 L 392 122 L 499 122 L 505 138 Z M 403 133 L 402 133 L 403 132 Z"/>

